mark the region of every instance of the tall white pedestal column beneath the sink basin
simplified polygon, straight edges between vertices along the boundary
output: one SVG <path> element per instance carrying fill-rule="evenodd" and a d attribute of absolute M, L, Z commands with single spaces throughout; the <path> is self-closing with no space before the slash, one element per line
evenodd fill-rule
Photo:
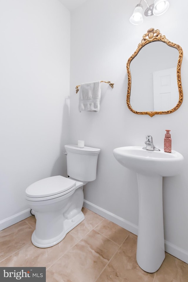
<path fill-rule="evenodd" d="M 139 223 L 137 263 L 147 272 L 157 271 L 164 258 L 164 226 L 162 176 L 137 173 L 139 191 Z"/>

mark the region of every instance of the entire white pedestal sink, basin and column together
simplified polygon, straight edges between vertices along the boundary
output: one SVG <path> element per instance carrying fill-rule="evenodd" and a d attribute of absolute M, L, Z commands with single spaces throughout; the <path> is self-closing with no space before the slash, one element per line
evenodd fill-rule
<path fill-rule="evenodd" d="M 147 272 L 157 271 L 164 258 L 162 177 L 181 172 L 183 156 L 176 152 L 143 150 L 139 146 L 113 150 L 116 160 L 137 173 L 139 223 L 137 263 Z"/>

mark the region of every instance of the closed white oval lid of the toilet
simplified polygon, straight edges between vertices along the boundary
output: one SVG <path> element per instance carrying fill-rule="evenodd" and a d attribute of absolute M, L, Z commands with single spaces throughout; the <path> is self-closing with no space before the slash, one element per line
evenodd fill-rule
<path fill-rule="evenodd" d="M 31 198 L 48 197 L 70 190 L 76 184 L 75 180 L 61 175 L 47 177 L 34 182 L 26 189 L 26 196 Z M 66 193 L 64 193 L 66 194 Z"/>

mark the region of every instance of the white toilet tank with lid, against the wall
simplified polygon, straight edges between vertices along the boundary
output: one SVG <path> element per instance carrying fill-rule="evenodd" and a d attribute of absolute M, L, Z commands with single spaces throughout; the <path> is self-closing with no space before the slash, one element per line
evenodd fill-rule
<path fill-rule="evenodd" d="M 78 145 L 65 145 L 67 152 L 67 174 L 80 181 L 96 179 L 97 159 L 100 149 L 78 148 Z"/>

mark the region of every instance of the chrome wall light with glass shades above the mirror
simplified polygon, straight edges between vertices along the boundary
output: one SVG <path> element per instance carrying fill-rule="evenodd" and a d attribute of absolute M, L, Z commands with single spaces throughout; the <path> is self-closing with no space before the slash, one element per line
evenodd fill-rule
<path fill-rule="evenodd" d="M 140 0 L 140 3 L 136 5 L 135 10 L 130 17 L 130 22 L 131 24 L 142 24 L 143 22 L 143 16 L 142 16 L 142 9 L 143 6 L 141 4 L 142 1 L 145 1 L 147 4 L 147 9 L 144 12 L 144 15 L 146 17 L 150 17 L 152 15 L 155 16 L 160 16 L 164 14 L 168 7 L 169 7 L 169 2 L 167 0 L 155 0 L 153 4 L 150 6 L 148 5 L 146 0 Z"/>

